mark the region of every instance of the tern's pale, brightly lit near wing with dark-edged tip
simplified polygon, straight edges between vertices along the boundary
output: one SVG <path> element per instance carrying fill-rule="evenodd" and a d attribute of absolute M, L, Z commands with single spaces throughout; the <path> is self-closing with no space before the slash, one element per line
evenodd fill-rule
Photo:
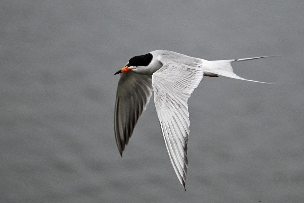
<path fill-rule="evenodd" d="M 187 101 L 199 85 L 203 70 L 174 61 L 161 62 L 163 67 L 152 75 L 154 102 L 171 164 L 185 188 L 189 135 Z"/>

